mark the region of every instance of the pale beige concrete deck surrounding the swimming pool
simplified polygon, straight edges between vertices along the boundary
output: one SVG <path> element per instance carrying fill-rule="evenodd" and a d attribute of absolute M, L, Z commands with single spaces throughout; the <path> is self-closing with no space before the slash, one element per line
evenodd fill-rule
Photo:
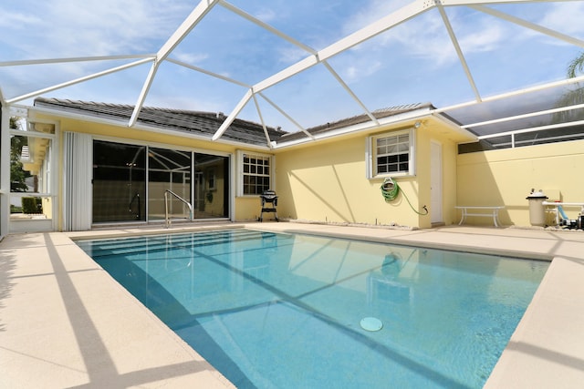
<path fill-rule="evenodd" d="M 441 227 L 389 230 L 301 223 L 211 228 L 308 232 L 552 260 L 488 388 L 584 382 L 584 232 Z M 174 225 L 172 232 L 210 226 Z M 9 235 L 0 242 L 0 388 L 234 387 L 71 239 L 156 228 Z"/>

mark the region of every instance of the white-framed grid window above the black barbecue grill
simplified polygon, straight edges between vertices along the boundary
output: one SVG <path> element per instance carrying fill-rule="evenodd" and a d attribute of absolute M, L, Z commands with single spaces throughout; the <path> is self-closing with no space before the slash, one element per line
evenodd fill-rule
<path fill-rule="evenodd" d="M 241 171 L 239 196 L 260 195 L 272 188 L 272 158 L 267 155 L 238 153 Z"/>

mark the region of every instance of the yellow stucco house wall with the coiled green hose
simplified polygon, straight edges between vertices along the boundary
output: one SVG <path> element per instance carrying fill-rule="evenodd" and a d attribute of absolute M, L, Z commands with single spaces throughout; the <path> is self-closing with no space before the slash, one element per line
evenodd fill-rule
<path fill-rule="evenodd" d="M 456 146 L 428 123 L 416 131 L 416 177 L 395 179 L 412 207 L 430 208 L 431 140 L 443 147 L 443 222 L 454 221 Z M 402 128 L 399 128 L 402 129 Z M 365 151 L 369 135 L 321 141 L 276 155 L 280 217 L 337 223 L 392 224 L 431 227 L 430 215 L 412 210 L 403 196 L 390 203 L 381 195 L 383 179 L 367 179 Z"/>

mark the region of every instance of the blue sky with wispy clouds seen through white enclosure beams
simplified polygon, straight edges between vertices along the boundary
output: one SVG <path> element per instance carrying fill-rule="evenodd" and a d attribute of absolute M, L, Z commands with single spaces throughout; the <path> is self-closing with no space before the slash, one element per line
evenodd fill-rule
<path fill-rule="evenodd" d="M 315 50 L 408 5 L 410 1 L 232 0 L 231 5 Z M 154 54 L 198 4 L 183 0 L 22 0 L 0 5 L 0 64 L 12 61 Z M 584 40 L 584 2 L 493 5 L 558 33 Z M 516 26 L 467 6 L 445 7 L 482 97 L 565 77 L 582 47 Z M 308 56 L 308 52 L 216 5 L 170 58 L 255 85 Z M 85 77 L 134 59 L 0 67 L 6 99 Z M 333 56 L 328 65 L 370 110 L 416 102 L 437 107 L 474 98 L 437 9 Z M 150 64 L 132 67 L 43 94 L 134 105 Z M 245 87 L 165 62 L 145 105 L 229 114 Z M 264 91 L 305 128 L 361 114 L 322 64 Z M 30 104 L 32 100 L 21 103 Z M 297 128 L 263 98 L 270 126 Z M 254 100 L 240 118 L 259 121 Z"/>

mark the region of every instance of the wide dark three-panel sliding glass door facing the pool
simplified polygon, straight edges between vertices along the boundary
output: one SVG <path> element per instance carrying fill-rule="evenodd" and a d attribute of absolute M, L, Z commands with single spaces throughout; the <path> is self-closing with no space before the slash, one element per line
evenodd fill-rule
<path fill-rule="evenodd" d="M 93 222 L 229 217 L 229 157 L 93 142 Z"/>

